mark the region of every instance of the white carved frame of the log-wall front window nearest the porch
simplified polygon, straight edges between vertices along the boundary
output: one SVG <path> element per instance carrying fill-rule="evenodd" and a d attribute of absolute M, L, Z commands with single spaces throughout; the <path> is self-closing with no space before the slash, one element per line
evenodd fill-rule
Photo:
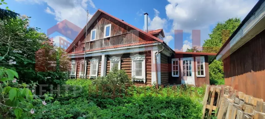
<path fill-rule="evenodd" d="M 145 55 L 136 54 L 134 56 L 130 56 L 132 60 L 132 76 L 135 77 L 135 81 L 144 81 L 145 83 Z M 142 62 L 142 76 L 135 76 L 135 63 Z M 132 79 L 133 80 L 133 79 Z"/>

